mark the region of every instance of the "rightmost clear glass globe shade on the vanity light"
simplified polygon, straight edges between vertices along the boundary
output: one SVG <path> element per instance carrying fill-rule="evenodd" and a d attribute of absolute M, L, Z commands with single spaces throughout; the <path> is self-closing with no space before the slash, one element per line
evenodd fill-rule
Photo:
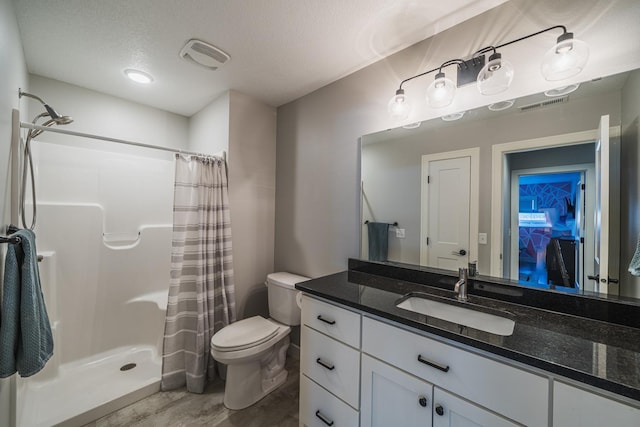
<path fill-rule="evenodd" d="M 580 73 L 588 59 L 589 45 L 569 38 L 559 41 L 544 54 L 540 71 L 546 80 L 564 80 Z"/>

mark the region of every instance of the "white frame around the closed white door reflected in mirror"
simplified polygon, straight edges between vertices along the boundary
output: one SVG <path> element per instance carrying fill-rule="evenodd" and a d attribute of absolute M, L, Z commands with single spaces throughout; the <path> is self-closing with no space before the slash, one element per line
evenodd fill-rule
<path fill-rule="evenodd" d="M 421 178 L 421 214 L 420 214 L 420 264 L 427 265 L 429 246 L 426 235 L 429 227 L 429 211 L 422 207 L 429 200 L 429 186 L 427 179 L 429 175 L 429 162 L 437 160 L 449 160 L 460 157 L 469 157 L 471 169 L 469 171 L 469 260 L 478 259 L 478 227 L 480 221 L 480 147 L 467 148 L 465 150 L 447 151 L 446 153 L 425 154 L 422 156 L 422 178 Z"/>

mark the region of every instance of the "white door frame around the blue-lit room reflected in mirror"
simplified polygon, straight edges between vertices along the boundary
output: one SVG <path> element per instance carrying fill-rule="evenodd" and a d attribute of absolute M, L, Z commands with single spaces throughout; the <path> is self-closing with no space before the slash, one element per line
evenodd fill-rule
<path fill-rule="evenodd" d="M 588 144 L 588 142 L 587 142 Z M 571 173 L 571 172 L 579 172 L 582 174 L 583 182 L 585 184 L 585 199 L 586 203 L 586 212 L 585 209 L 580 209 L 580 215 L 584 216 L 585 221 L 581 222 L 580 225 L 584 229 L 584 235 L 581 237 L 584 238 L 584 242 L 580 244 L 580 258 L 576 260 L 579 265 L 580 276 L 578 277 L 578 282 L 580 283 L 580 290 L 586 289 L 586 278 L 587 275 L 593 274 L 593 261 L 591 261 L 591 266 L 589 269 L 586 268 L 584 263 L 582 262 L 585 259 L 585 253 L 587 252 L 587 248 L 593 248 L 593 212 L 594 208 L 594 198 L 595 198 L 595 165 L 593 163 L 585 163 L 585 164 L 575 164 L 575 165 L 566 165 L 566 166 L 551 166 L 551 167 L 542 167 L 542 168 L 533 168 L 533 169 L 518 169 L 511 171 L 511 230 L 518 228 L 518 208 L 517 208 L 517 193 L 518 193 L 518 178 L 522 175 L 544 175 L 544 174 L 556 174 L 556 173 Z M 580 190 L 578 190 L 580 191 Z M 511 233 L 511 280 L 518 280 L 518 239 L 519 236 L 517 233 Z M 588 254 L 587 254 L 588 255 Z M 589 261 L 587 261 L 588 263 Z"/>

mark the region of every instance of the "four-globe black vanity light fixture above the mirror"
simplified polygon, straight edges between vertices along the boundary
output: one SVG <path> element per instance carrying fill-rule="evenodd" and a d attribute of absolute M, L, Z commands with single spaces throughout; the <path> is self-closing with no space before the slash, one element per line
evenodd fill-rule
<path fill-rule="evenodd" d="M 427 101 L 432 108 L 443 108 L 453 102 L 456 88 L 468 83 L 476 82 L 478 90 L 483 95 L 495 95 L 509 88 L 515 74 L 514 67 L 498 52 L 505 46 L 521 42 L 552 30 L 562 30 L 557 43 L 549 49 L 542 58 L 540 71 L 548 81 L 564 80 L 582 71 L 589 58 L 589 48 L 586 43 L 573 38 L 573 33 L 567 31 L 564 25 L 556 25 L 544 30 L 520 37 L 519 39 L 496 46 L 487 46 L 475 52 L 471 59 L 451 59 L 437 68 L 425 71 L 400 82 L 396 94 L 387 106 L 393 119 L 403 121 L 409 117 L 411 105 L 403 85 L 410 80 L 437 72 L 435 80 L 427 88 Z M 491 52 L 485 64 L 485 55 Z M 444 68 L 456 65 L 457 84 L 445 76 Z"/>

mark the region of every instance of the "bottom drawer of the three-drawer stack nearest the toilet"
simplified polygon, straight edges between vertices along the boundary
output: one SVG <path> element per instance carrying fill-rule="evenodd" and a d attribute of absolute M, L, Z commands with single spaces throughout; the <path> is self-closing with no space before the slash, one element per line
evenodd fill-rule
<path fill-rule="evenodd" d="M 357 427 L 358 411 L 306 376 L 300 375 L 300 425 Z"/>

